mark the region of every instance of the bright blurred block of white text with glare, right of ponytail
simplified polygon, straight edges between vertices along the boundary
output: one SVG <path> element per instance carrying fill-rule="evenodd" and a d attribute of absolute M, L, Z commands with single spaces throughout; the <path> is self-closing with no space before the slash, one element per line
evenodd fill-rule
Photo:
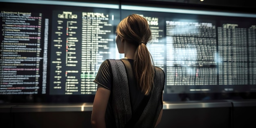
<path fill-rule="evenodd" d="M 166 21 L 166 48 L 167 86 L 217 85 L 213 23 Z"/>

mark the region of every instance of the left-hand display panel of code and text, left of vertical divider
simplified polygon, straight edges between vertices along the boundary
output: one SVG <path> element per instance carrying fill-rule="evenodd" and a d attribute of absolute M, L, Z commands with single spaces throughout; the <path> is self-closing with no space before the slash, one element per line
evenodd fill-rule
<path fill-rule="evenodd" d="M 116 4 L 1 2 L 0 11 L 4 103 L 92 102 L 100 64 L 121 58 Z"/>

